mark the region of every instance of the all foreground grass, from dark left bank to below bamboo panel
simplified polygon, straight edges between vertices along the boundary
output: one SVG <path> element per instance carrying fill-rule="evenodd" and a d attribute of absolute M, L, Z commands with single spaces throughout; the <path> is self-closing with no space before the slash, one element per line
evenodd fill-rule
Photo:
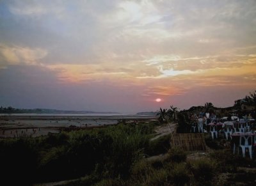
<path fill-rule="evenodd" d="M 3 181 L 10 185 L 68 179 L 77 180 L 67 185 L 227 185 L 244 174 L 237 167 L 256 165 L 255 160 L 232 155 L 230 149 L 212 150 L 209 158 L 187 159 L 187 152 L 170 148 L 170 136 L 150 141 L 155 126 L 119 124 L 44 137 L 0 139 Z M 166 159 L 145 158 L 166 152 Z M 216 174 L 227 172 L 234 176 L 216 178 Z"/>

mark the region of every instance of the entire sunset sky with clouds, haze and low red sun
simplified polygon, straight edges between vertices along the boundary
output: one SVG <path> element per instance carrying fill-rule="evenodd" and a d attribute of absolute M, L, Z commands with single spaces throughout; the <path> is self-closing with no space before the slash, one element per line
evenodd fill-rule
<path fill-rule="evenodd" d="M 255 89 L 255 0 L 0 1 L 4 107 L 228 107 Z"/>

